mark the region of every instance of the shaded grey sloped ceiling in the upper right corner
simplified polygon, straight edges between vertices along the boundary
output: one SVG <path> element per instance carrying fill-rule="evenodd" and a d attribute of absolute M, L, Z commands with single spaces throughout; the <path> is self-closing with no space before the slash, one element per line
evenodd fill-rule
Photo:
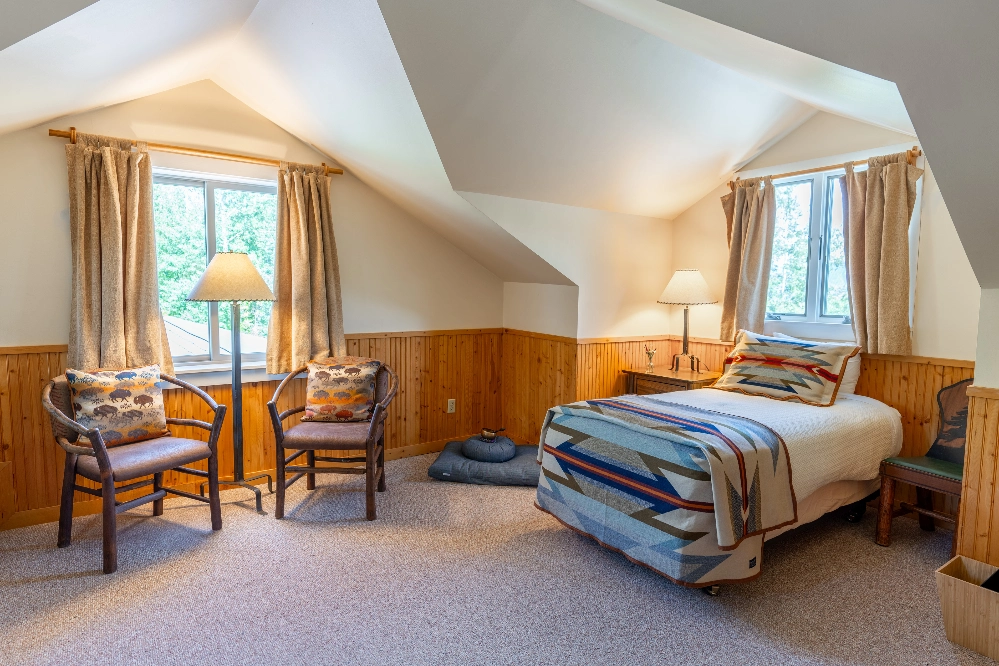
<path fill-rule="evenodd" d="M 656 0 L 606 0 L 610 3 Z M 658 3 L 656 3 L 658 4 Z M 668 0 L 761 41 L 894 81 L 982 288 L 999 287 L 999 2 Z M 979 345 L 981 353 L 982 345 Z"/>

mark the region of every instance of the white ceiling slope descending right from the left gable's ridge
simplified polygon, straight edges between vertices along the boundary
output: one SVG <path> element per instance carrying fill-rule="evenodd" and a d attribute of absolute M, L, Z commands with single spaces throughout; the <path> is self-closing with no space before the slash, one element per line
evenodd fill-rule
<path fill-rule="evenodd" d="M 261 0 L 212 78 L 503 280 L 572 284 L 454 191 L 374 0 Z"/>

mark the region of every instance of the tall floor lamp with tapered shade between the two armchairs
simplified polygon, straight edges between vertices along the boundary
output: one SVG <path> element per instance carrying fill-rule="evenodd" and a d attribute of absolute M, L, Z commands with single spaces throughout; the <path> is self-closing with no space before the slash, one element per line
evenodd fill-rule
<path fill-rule="evenodd" d="M 274 492 L 270 474 L 257 474 L 245 478 L 243 473 L 243 378 L 239 346 L 239 302 L 273 301 L 274 293 L 260 277 L 245 252 L 217 252 L 212 257 L 205 274 L 187 295 L 189 301 L 224 302 L 232 304 L 232 481 L 219 480 L 220 485 L 241 486 L 252 490 L 257 498 L 257 511 L 263 512 L 260 489 L 250 483 L 267 479 L 267 488 Z M 204 487 L 201 494 L 205 494 Z"/>

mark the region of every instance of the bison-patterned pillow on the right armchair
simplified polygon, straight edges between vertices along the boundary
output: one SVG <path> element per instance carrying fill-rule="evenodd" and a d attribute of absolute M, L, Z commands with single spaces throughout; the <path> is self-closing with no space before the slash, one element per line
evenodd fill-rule
<path fill-rule="evenodd" d="M 303 421 L 367 421 L 375 407 L 381 361 L 335 356 L 309 363 Z"/>

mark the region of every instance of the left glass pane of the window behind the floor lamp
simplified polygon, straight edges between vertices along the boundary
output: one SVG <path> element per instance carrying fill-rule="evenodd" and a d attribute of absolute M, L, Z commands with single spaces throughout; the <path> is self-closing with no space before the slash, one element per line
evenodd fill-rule
<path fill-rule="evenodd" d="M 160 311 L 174 356 L 208 355 L 208 304 L 187 295 L 205 272 L 205 191 L 201 185 L 153 183 Z"/>

